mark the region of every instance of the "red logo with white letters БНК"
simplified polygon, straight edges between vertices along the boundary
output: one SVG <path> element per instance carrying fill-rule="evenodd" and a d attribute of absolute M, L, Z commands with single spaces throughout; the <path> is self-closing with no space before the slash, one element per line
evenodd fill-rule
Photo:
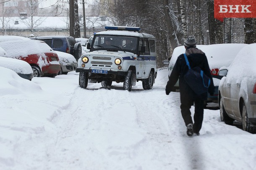
<path fill-rule="evenodd" d="M 214 0 L 214 18 L 256 18 L 256 0 Z"/>

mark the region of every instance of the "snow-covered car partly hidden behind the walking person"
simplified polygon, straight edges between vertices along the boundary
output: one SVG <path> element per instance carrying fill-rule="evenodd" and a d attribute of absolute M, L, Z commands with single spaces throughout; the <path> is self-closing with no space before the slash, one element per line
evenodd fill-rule
<path fill-rule="evenodd" d="M 215 86 L 214 95 L 211 96 L 210 94 L 208 94 L 206 101 L 207 103 L 218 103 L 218 88 L 220 79 L 222 78 L 222 76 L 218 75 L 219 68 L 221 68 L 222 66 L 229 66 L 237 53 L 240 51 L 240 49 L 247 45 L 248 44 L 241 43 L 196 45 L 196 48 L 202 50 L 207 57 L 209 67 L 211 69 L 213 83 Z M 185 46 L 178 46 L 173 50 L 170 61 L 163 61 L 164 64 L 168 65 L 168 76 L 170 76 L 172 68 L 174 67 L 178 56 L 180 56 L 180 54 L 182 53 L 185 53 Z M 175 84 L 175 89 L 176 91 L 179 91 L 179 82 Z"/>

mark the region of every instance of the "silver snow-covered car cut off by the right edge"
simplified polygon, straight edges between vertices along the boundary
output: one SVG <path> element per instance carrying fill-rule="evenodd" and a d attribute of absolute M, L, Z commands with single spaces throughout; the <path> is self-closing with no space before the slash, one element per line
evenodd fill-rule
<path fill-rule="evenodd" d="M 226 124 L 242 122 L 243 130 L 253 132 L 256 126 L 256 43 L 249 44 L 229 67 L 222 67 L 219 84 L 220 119 Z"/>

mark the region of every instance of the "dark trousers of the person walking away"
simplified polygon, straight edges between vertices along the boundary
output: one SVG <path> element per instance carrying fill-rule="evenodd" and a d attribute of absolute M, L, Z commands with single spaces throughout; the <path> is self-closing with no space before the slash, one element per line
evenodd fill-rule
<path fill-rule="evenodd" d="M 190 108 L 193 103 L 195 104 L 194 124 L 190 112 Z M 202 127 L 204 119 L 204 100 L 185 99 L 181 101 L 180 109 L 185 125 L 187 126 L 188 124 L 192 123 L 194 132 L 198 133 Z"/>

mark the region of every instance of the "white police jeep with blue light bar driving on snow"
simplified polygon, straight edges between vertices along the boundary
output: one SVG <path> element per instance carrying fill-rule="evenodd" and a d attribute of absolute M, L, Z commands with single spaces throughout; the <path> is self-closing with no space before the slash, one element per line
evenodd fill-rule
<path fill-rule="evenodd" d="M 89 53 L 78 60 L 76 72 L 79 85 L 91 83 L 111 86 L 112 81 L 123 82 L 123 89 L 131 91 L 136 81 L 143 89 L 152 89 L 157 76 L 155 37 L 141 33 L 139 27 L 105 26 L 87 43 Z"/>

